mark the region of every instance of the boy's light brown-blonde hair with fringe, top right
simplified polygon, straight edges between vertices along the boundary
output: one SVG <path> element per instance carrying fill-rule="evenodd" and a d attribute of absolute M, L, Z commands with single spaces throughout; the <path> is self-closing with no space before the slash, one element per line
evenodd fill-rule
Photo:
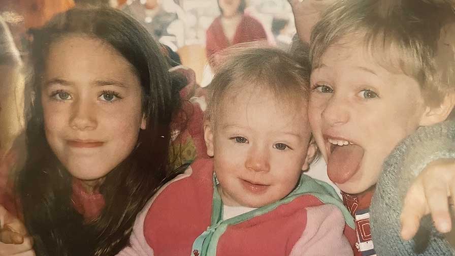
<path fill-rule="evenodd" d="M 455 88 L 454 27 L 449 0 L 340 0 L 313 28 L 311 63 L 319 66 L 330 46 L 361 35 L 383 67 L 413 77 L 436 106 Z"/>

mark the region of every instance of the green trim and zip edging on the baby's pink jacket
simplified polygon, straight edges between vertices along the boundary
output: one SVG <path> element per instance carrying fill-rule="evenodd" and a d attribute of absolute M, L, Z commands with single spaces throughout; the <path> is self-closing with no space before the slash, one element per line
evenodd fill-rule
<path fill-rule="evenodd" d="M 273 211 L 278 206 L 289 203 L 294 199 L 303 195 L 312 195 L 319 199 L 323 204 L 332 204 L 337 206 L 343 213 L 347 225 L 354 229 L 354 219 L 349 211 L 343 205 L 335 189 L 326 182 L 316 180 L 308 175 L 302 174 L 297 187 L 285 198 L 270 204 L 257 208 L 255 210 L 246 212 L 236 217 L 223 220 L 223 204 L 216 188 L 216 177 L 213 178 L 213 203 L 212 203 L 212 218 L 211 226 L 208 227 L 196 240 L 194 240 L 193 248 L 191 251 L 197 250 L 200 256 L 215 255 L 216 246 L 221 235 L 226 231 L 228 226 L 236 225 L 243 221 L 247 221 L 253 217 L 263 215 Z"/>

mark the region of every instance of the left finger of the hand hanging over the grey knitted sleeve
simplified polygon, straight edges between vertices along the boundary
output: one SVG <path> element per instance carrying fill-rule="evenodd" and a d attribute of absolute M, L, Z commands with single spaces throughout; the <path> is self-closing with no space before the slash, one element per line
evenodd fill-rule
<path fill-rule="evenodd" d="M 420 226 L 420 219 L 429 213 L 423 186 L 417 183 L 409 188 L 403 201 L 403 208 L 400 215 L 401 237 L 409 240 L 415 236 Z"/>

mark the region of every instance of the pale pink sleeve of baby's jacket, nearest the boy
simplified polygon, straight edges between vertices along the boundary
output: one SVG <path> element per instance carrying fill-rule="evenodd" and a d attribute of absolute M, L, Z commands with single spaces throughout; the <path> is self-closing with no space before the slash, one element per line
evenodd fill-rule
<path fill-rule="evenodd" d="M 309 207 L 305 230 L 289 255 L 353 255 L 344 229 L 343 214 L 336 206 Z"/>

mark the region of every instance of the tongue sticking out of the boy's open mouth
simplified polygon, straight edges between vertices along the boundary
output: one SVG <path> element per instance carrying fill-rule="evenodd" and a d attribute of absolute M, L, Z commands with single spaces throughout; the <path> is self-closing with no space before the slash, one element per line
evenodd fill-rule
<path fill-rule="evenodd" d="M 359 169 L 364 150 L 357 145 L 335 146 L 327 163 L 329 179 L 342 184 L 348 181 Z"/>

